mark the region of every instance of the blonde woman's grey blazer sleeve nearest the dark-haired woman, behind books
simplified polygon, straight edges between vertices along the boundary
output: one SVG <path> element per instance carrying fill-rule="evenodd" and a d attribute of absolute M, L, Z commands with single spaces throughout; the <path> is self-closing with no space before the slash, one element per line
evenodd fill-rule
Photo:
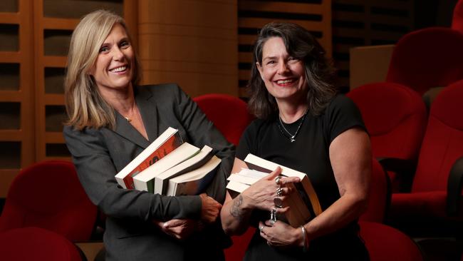
<path fill-rule="evenodd" d="M 217 170 L 214 180 L 207 188 L 207 195 L 211 196 L 219 203 L 224 203 L 227 177 L 233 167 L 235 148 L 229 143 L 224 135 L 220 133 L 214 124 L 207 119 L 201 109 L 192 101 L 186 93 L 178 86 L 174 88 L 175 100 L 178 103 L 177 113 L 182 121 L 189 140 L 199 148 L 209 145 L 214 148 L 217 157 L 222 159 L 222 163 Z"/>

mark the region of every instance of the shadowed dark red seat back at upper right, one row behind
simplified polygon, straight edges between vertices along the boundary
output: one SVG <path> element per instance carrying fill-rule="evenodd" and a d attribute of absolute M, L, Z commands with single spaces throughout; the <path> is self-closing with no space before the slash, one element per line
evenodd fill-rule
<path fill-rule="evenodd" d="M 405 34 L 397 42 L 386 81 L 410 86 L 420 95 L 463 79 L 463 34 L 431 27 Z"/>

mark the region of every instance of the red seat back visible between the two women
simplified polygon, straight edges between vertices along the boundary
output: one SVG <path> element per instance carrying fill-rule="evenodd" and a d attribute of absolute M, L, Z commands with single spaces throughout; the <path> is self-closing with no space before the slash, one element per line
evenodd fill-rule
<path fill-rule="evenodd" d="M 198 96 L 193 101 L 230 143 L 238 145 L 241 134 L 253 119 L 244 101 L 219 93 Z"/>

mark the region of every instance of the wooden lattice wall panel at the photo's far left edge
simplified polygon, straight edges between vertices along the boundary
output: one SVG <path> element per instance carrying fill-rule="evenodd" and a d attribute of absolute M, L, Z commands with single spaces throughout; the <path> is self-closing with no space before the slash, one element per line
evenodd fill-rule
<path fill-rule="evenodd" d="M 34 158 L 32 6 L 28 0 L 1 5 L 0 198 L 11 180 Z M 6 36 L 6 37 L 3 37 Z"/>

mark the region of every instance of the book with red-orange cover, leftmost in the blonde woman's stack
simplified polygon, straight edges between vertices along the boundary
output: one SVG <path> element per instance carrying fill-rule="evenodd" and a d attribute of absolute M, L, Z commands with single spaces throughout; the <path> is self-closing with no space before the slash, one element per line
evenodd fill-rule
<path fill-rule="evenodd" d="M 182 143 L 182 137 L 180 137 L 178 130 L 170 127 L 167 128 L 142 153 L 137 155 L 125 168 L 115 175 L 119 185 L 123 188 L 135 188 L 133 177 L 157 162 L 157 160 L 164 158 L 165 155 L 178 148 Z"/>

